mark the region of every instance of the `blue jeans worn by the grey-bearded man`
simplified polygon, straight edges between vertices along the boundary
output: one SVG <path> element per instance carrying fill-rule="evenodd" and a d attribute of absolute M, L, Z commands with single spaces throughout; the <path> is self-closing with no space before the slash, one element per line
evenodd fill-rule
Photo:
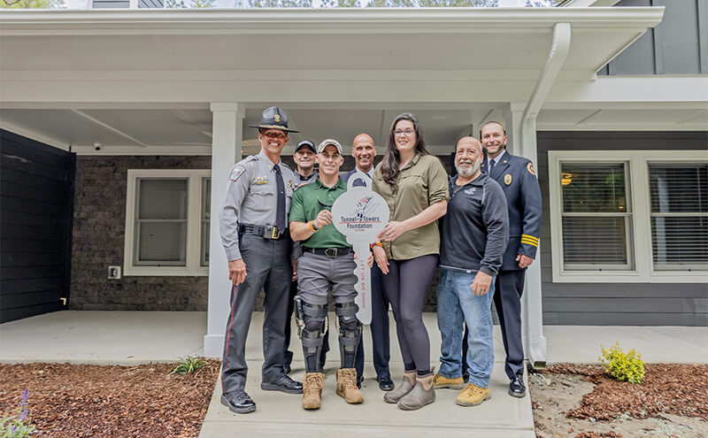
<path fill-rule="evenodd" d="M 470 331 L 467 340 L 467 364 L 470 382 L 480 388 L 489 388 L 489 377 L 494 367 L 494 339 L 492 337 L 491 304 L 494 296 L 494 277 L 489 292 L 475 296 L 472 286 L 475 273 L 440 268 L 437 286 L 437 327 L 443 336 L 440 357 L 440 375 L 447 379 L 462 377 L 463 323 Z"/>

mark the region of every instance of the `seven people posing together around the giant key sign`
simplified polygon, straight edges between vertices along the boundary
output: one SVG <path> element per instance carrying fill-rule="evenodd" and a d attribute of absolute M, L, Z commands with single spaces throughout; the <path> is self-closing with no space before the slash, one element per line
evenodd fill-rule
<path fill-rule="evenodd" d="M 417 410 L 435 401 L 436 388 L 462 389 L 457 403 L 463 406 L 488 399 L 494 365 L 492 301 L 502 326 L 509 394 L 525 396 L 520 297 L 525 269 L 538 247 L 541 194 L 533 164 L 505 150 L 501 124 L 484 125 L 481 141 L 473 136 L 459 140 L 452 178 L 427 151 L 419 120 L 411 113 L 394 119 L 385 156 L 375 169 L 372 137 L 357 135 L 351 150 L 356 168 L 344 174 L 342 144 L 334 139 L 317 146 L 299 142 L 296 172 L 282 163 L 288 134 L 296 131 L 289 129 L 281 108 L 267 108 L 261 123 L 251 127 L 258 128 L 261 151 L 234 166 L 220 215 L 233 284 L 221 403 L 238 413 L 256 410 L 245 392 L 245 343 L 261 289 L 261 388 L 303 394 L 304 409 L 319 408 L 331 296 L 341 361 L 336 394 L 347 403 L 364 401 L 355 257 L 366 257 L 372 265 L 373 365 L 385 402 Z M 371 179 L 371 188 L 389 206 L 389 222 L 371 242 L 369 254 L 354 254 L 332 224 L 332 205 L 358 173 Z M 422 318 L 436 267 L 442 334 L 438 373 L 430 363 Z M 389 373 L 389 305 L 404 361 L 404 378 L 397 387 Z M 304 352 L 302 383 L 288 375 L 293 313 Z"/>

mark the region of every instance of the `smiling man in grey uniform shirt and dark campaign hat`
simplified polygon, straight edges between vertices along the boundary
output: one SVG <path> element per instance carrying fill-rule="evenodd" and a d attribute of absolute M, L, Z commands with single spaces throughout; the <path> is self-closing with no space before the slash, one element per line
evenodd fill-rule
<path fill-rule="evenodd" d="M 245 392 L 245 349 L 250 318 L 261 288 L 263 307 L 263 369 L 261 389 L 301 394 L 302 384 L 283 371 L 285 325 L 293 273 L 288 232 L 295 175 L 281 162 L 288 142 L 288 116 L 277 106 L 263 111 L 258 128 L 260 153 L 234 165 L 220 214 L 221 242 L 227 252 L 231 311 L 227 319 L 221 372 L 221 403 L 230 411 L 256 410 Z M 294 263 L 294 262 L 293 262 Z"/>

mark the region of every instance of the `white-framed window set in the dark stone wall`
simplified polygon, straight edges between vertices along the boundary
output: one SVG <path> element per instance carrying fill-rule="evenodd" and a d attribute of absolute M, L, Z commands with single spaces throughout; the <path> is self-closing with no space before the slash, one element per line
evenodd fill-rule
<path fill-rule="evenodd" d="M 208 170 L 129 170 L 125 275 L 207 275 Z"/>

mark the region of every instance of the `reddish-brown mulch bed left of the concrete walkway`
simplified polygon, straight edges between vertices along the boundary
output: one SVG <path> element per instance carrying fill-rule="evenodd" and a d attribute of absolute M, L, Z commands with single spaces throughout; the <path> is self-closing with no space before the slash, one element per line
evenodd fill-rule
<path fill-rule="evenodd" d="M 32 436 L 196 437 L 219 360 L 185 376 L 169 375 L 175 365 L 0 365 L 0 412 L 27 388 Z"/>

